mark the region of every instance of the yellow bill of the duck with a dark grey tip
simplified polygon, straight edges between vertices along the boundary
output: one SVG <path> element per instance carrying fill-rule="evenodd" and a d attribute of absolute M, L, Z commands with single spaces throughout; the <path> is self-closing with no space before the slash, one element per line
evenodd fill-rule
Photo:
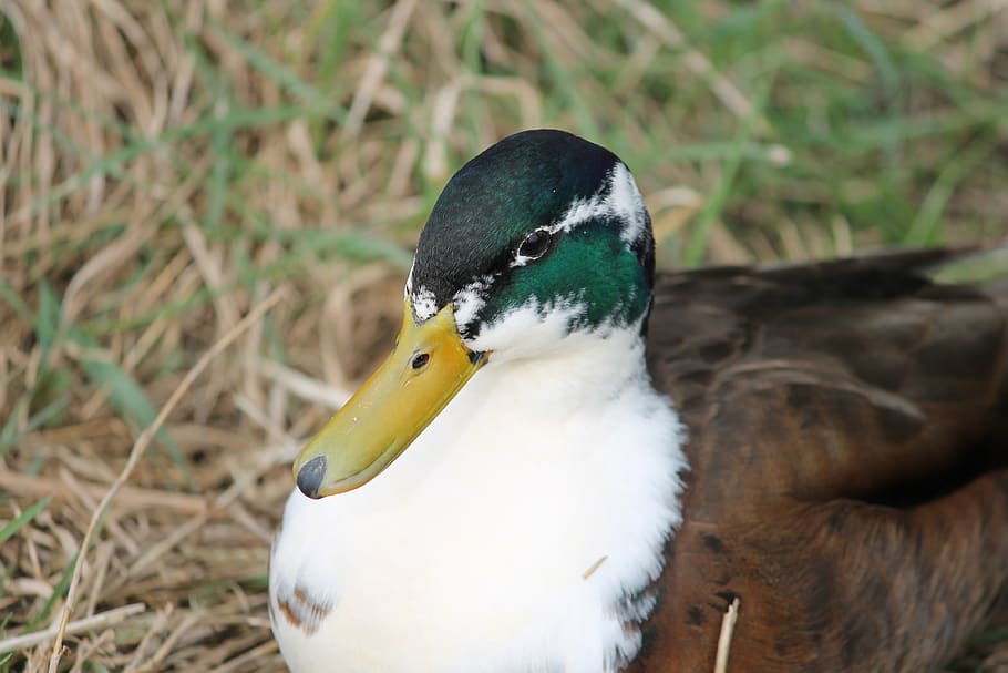
<path fill-rule="evenodd" d="M 377 477 L 485 360 L 462 343 L 451 304 L 418 324 L 408 299 L 395 349 L 301 449 L 294 463 L 298 488 L 322 498 Z"/>

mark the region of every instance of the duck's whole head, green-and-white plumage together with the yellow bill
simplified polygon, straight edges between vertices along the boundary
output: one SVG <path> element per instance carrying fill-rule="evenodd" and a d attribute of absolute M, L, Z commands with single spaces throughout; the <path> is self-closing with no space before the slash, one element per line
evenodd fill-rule
<path fill-rule="evenodd" d="M 301 450 L 298 488 L 366 485 L 484 367 L 548 358 L 575 334 L 642 333 L 654 266 L 650 218 L 615 154 L 563 131 L 502 140 L 438 198 L 395 347 Z"/>

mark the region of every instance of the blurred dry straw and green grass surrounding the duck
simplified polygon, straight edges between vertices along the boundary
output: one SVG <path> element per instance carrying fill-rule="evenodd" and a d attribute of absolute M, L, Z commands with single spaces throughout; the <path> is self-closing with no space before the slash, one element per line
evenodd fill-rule
<path fill-rule="evenodd" d="M 990 241 L 1008 2 L 0 0 L 0 672 L 45 670 L 71 584 L 60 670 L 284 670 L 298 442 L 446 179 L 533 126 L 629 164 L 664 268 Z"/>

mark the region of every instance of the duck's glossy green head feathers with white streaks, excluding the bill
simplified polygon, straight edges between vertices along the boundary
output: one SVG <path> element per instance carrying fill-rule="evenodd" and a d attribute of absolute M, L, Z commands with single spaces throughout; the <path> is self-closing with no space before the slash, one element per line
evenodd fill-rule
<path fill-rule="evenodd" d="M 566 333 L 641 323 L 652 276 L 650 218 L 626 165 L 570 133 L 536 130 L 448 183 L 407 294 L 420 322 L 452 303 L 466 345 L 493 350 L 494 328 L 520 313 L 560 315 Z"/>

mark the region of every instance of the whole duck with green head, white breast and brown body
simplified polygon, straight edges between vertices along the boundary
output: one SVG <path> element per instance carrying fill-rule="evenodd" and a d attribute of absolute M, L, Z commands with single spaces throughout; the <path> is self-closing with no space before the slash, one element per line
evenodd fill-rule
<path fill-rule="evenodd" d="M 613 152 L 492 145 L 295 460 L 290 671 L 938 670 L 1008 593 L 1008 284 L 935 279 L 965 254 L 656 274 Z"/>

